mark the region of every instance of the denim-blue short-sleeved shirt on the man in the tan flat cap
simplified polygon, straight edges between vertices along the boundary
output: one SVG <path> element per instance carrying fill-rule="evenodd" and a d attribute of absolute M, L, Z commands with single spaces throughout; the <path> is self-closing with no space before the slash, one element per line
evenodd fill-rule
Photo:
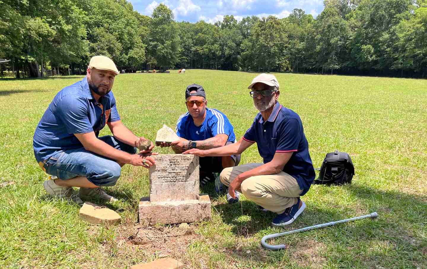
<path fill-rule="evenodd" d="M 40 162 L 64 150 L 81 148 L 74 134 L 94 131 L 98 137 L 106 121 L 117 120 L 120 116 L 113 92 L 97 102 L 85 77 L 59 91 L 44 112 L 33 137 L 35 158 Z"/>

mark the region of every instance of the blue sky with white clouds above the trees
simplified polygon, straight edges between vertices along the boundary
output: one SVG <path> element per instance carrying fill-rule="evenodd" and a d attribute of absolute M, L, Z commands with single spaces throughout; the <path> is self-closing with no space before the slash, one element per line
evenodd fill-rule
<path fill-rule="evenodd" d="M 314 17 L 323 10 L 323 0 L 128 0 L 140 14 L 151 15 L 153 9 L 164 3 L 175 14 L 176 21 L 208 23 L 222 21 L 224 15 L 234 15 L 237 20 L 256 15 L 287 17 L 293 9 L 303 9 Z"/>

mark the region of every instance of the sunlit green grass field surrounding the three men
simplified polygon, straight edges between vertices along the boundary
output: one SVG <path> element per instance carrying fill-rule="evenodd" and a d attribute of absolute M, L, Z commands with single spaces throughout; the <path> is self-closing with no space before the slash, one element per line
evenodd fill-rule
<path fill-rule="evenodd" d="M 253 202 L 228 205 L 213 185 L 212 219 L 140 228 L 137 204 L 149 194 L 148 170 L 125 166 L 120 199 L 106 204 L 122 224 L 83 222 L 79 206 L 50 199 L 47 175 L 35 162 L 32 136 L 55 94 L 83 76 L 0 80 L 0 268 L 129 268 L 174 257 L 185 268 L 427 268 L 427 81 L 356 76 L 275 74 L 279 102 L 296 111 L 315 167 L 335 149 L 351 154 L 351 185 L 314 185 L 302 197 L 307 209 L 284 228 Z M 208 107 L 224 112 L 240 138 L 257 114 L 247 85 L 255 73 L 187 70 L 185 74 L 123 74 L 113 92 L 124 124 L 154 140 L 163 124 L 175 127 L 186 112 L 184 89 L 205 87 Z M 110 134 L 108 127 L 101 135 Z M 172 153 L 155 147 L 154 151 Z M 261 162 L 255 145 L 241 164 Z M 377 211 L 379 218 L 279 237 L 287 250 L 260 246 L 266 234 Z M 138 234 L 145 234 L 140 237 Z"/>

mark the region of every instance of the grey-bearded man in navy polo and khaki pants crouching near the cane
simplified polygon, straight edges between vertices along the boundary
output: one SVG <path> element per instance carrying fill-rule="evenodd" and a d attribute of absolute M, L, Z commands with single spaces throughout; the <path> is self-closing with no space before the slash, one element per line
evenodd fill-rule
<path fill-rule="evenodd" d="M 307 193 L 315 177 L 307 139 L 298 114 L 278 102 L 280 91 L 275 76 L 260 74 L 248 88 L 252 89 L 249 94 L 260 113 L 243 137 L 228 146 L 191 149 L 184 154 L 201 157 L 240 154 L 257 143 L 263 164 L 226 168 L 220 179 L 229 186 L 232 198 L 238 196 L 237 191 L 242 192 L 262 208 L 278 213 L 273 225 L 288 225 L 304 211 L 305 203 L 300 196 Z"/>

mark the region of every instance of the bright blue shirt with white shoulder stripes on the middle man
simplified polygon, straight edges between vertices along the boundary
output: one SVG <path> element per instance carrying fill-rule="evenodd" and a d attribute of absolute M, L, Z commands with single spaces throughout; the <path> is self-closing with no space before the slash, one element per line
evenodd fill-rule
<path fill-rule="evenodd" d="M 206 117 L 200 126 L 194 125 L 194 120 L 190 113 L 182 114 L 176 123 L 176 134 L 179 137 L 193 141 L 205 140 L 217 134 L 227 134 L 227 141 L 232 143 L 236 141 L 234 128 L 227 116 L 219 110 L 210 108 L 206 108 Z"/>

